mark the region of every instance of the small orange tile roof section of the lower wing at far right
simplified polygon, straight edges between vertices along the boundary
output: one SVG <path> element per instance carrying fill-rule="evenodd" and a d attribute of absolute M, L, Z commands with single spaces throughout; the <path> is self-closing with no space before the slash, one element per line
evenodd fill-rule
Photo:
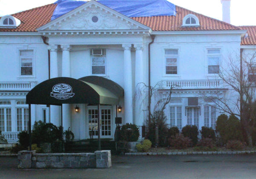
<path fill-rule="evenodd" d="M 241 45 L 256 45 L 256 26 L 239 26 L 247 30 L 247 34 L 241 39 Z"/>

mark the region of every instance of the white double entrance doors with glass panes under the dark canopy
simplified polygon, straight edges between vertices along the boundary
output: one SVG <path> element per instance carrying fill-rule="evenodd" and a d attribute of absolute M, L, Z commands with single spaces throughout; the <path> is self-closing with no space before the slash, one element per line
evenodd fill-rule
<path fill-rule="evenodd" d="M 111 137 L 111 109 L 101 109 L 100 135 L 102 138 Z M 88 127 L 90 138 L 98 138 L 98 110 L 88 109 Z"/>

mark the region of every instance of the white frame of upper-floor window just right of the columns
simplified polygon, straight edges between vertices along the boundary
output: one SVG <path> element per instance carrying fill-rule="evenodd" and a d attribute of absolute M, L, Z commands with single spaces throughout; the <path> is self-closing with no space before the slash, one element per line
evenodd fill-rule
<path fill-rule="evenodd" d="M 177 50 L 178 54 L 165 54 L 166 50 Z M 177 74 L 166 74 L 166 58 L 177 58 Z M 163 48 L 163 76 L 164 77 L 180 77 L 180 48 L 170 47 Z"/>

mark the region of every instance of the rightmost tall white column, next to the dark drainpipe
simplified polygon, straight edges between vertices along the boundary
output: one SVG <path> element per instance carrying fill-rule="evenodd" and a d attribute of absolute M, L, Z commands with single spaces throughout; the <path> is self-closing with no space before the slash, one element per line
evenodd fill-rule
<path fill-rule="evenodd" d="M 135 124 L 143 125 L 143 94 L 141 93 L 143 85 L 143 44 L 134 44 L 136 49 L 135 61 Z"/>

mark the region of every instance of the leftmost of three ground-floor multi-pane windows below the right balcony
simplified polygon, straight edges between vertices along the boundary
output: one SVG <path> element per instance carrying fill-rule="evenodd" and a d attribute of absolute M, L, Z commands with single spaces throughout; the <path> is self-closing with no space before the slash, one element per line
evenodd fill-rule
<path fill-rule="evenodd" d="M 175 126 L 175 121 L 177 128 L 181 130 L 182 128 L 182 111 L 181 106 L 170 106 L 170 126 Z"/>

